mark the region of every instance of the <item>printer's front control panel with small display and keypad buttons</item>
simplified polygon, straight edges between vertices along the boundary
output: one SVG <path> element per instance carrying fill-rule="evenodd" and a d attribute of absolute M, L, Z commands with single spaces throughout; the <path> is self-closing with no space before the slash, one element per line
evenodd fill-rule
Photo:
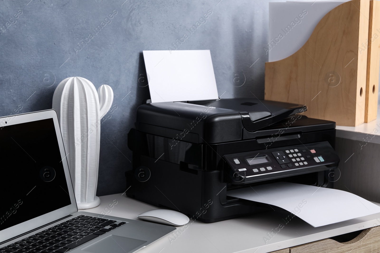
<path fill-rule="evenodd" d="M 329 170 L 339 163 L 328 141 L 228 154 L 223 159 L 230 165 L 233 184 Z"/>

